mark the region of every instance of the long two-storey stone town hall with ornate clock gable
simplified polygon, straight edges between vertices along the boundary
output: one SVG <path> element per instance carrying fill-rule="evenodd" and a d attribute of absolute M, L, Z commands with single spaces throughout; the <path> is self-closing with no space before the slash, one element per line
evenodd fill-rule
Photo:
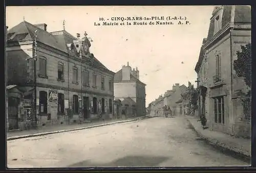
<path fill-rule="evenodd" d="M 28 60 L 34 53 L 35 31 L 36 66 L 33 59 Z M 103 118 L 112 116 L 114 72 L 90 53 L 86 33 L 83 38 L 80 34 L 72 36 L 65 28 L 49 33 L 45 23 L 23 21 L 11 28 L 7 37 L 7 83 L 24 92 L 22 101 L 31 108 L 36 68 L 37 126 L 66 123 L 67 119 L 83 122 L 101 117 L 100 112 Z M 73 116 L 67 117 L 69 109 Z M 21 116 L 26 113 L 23 109 Z M 24 123 L 29 121 L 18 118 Z"/>

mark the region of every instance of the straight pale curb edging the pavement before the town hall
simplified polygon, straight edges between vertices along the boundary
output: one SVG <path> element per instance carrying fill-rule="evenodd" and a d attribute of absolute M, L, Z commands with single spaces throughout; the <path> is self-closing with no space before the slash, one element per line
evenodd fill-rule
<path fill-rule="evenodd" d="M 7 138 L 7 141 L 15 140 L 15 139 L 21 139 L 21 138 L 35 137 L 35 136 L 50 135 L 50 134 L 55 134 L 55 133 L 63 133 L 63 132 L 72 132 L 72 131 L 78 131 L 78 130 L 84 130 L 84 129 L 91 129 L 91 128 L 96 128 L 96 127 L 101 127 L 101 126 L 114 125 L 114 124 L 117 124 L 117 123 L 137 121 L 139 119 L 147 119 L 147 118 L 143 117 L 143 118 L 136 118 L 136 119 L 131 119 L 131 120 L 123 120 L 123 121 L 103 123 L 101 125 L 94 125 L 94 126 L 83 127 L 83 128 L 76 128 L 76 129 L 69 129 L 69 130 L 59 130 L 59 131 L 53 131 L 53 132 L 43 132 L 43 133 L 36 133 L 36 134 L 22 135 L 22 136 L 13 136 L 13 137 Z"/>

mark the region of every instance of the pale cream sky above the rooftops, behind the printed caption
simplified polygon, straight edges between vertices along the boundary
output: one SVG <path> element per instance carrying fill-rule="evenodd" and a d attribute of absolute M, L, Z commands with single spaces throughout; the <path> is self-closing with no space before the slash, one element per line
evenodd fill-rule
<path fill-rule="evenodd" d="M 32 24 L 46 23 L 47 31 L 65 29 L 76 37 L 84 31 L 92 38 L 90 52 L 110 70 L 122 65 L 138 67 L 146 84 L 146 106 L 175 83 L 196 86 L 195 66 L 204 37 L 207 37 L 214 6 L 37 6 L 6 7 L 6 25 L 10 28 L 24 19 Z M 18 12 L 18 15 L 17 15 Z M 182 16 L 190 24 L 102 26 L 112 17 Z M 107 20 L 109 19 L 109 20 Z M 169 20 L 170 21 L 170 20 Z M 95 26 L 100 23 L 100 26 Z M 184 21 L 182 21 L 184 22 Z"/>

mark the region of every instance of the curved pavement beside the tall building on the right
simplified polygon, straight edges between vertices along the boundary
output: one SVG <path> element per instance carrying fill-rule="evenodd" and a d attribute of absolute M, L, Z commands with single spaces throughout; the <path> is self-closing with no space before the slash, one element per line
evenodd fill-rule
<path fill-rule="evenodd" d="M 244 138 L 235 138 L 228 134 L 210 131 L 208 129 L 203 129 L 201 122 L 197 118 L 185 115 L 186 119 L 193 126 L 194 130 L 206 140 L 209 144 L 216 146 L 223 151 L 232 153 L 244 160 L 251 160 L 251 140 Z"/>

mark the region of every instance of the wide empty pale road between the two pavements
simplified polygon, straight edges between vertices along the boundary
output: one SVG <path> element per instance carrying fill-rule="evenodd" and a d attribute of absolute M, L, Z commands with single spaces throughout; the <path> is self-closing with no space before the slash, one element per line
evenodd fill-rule
<path fill-rule="evenodd" d="M 155 117 L 92 129 L 10 140 L 8 167 L 238 166 L 183 117 Z"/>

